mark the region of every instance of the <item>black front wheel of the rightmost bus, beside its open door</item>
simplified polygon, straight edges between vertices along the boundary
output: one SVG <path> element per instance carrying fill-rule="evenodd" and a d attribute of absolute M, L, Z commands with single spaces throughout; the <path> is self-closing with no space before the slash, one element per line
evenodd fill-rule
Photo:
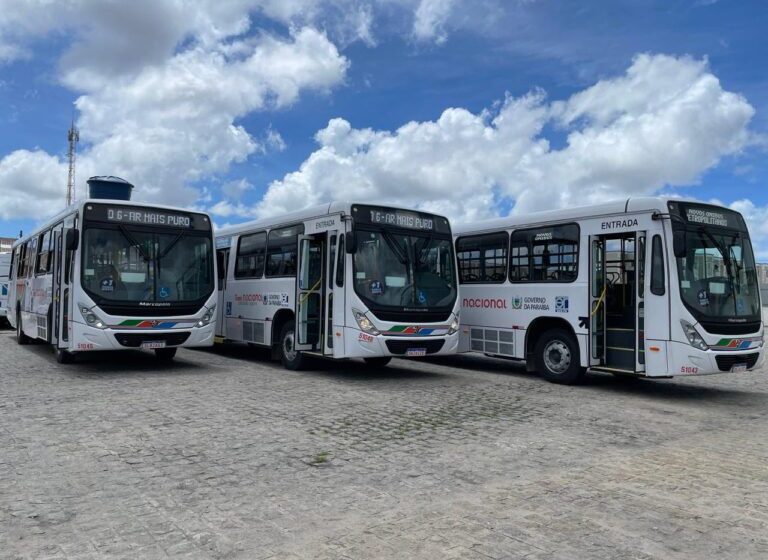
<path fill-rule="evenodd" d="M 552 383 L 575 385 L 584 376 L 576 338 L 564 329 L 545 332 L 533 350 L 536 369 Z"/>

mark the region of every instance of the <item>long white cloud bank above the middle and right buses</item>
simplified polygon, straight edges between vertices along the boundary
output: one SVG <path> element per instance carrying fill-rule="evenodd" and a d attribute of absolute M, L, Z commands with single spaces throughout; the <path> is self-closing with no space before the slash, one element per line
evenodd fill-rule
<path fill-rule="evenodd" d="M 640 55 L 627 72 L 549 103 L 543 92 L 474 114 L 451 108 L 394 132 L 333 119 L 320 147 L 270 185 L 256 215 L 331 199 L 427 208 L 457 220 L 695 184 L 749 142 L 754 109 L 723 90 L 706 61 Z M 567 136 L 553 149 L 545 126 Z"/>

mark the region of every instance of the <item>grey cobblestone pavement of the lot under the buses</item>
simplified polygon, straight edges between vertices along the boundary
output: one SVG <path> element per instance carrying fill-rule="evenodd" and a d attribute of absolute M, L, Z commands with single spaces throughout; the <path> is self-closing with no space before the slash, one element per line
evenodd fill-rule
<path fill-rule="evenodd" d="M 768 558 L 765 371 L 266 358 L 0 332 L 0 557 Z"/>

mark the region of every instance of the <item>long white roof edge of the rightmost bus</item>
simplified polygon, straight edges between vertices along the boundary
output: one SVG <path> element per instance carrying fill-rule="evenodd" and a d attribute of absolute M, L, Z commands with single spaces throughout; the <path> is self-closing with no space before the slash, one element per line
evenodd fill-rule
<path fill-rule="evenodd" d="M 467 233 L 480 233 L 492 230 L 509 229 L 511 227 L 519 226 L 536 226 L 539 224 L 584 220 L 602 216 L 615 216 L 634 212 L 666 213 L 669 211 L 667 202 L 670 200 L 707 204 L 693 199 L 672 198 L 666 196 L 626 198 L 612 200 L 603 204 L 577 206 L 573 208 L 564 208 L 562 210 L 530 212 L 527 214 L 506 216 L 504 218 L 494 218 L 491 220 L 482 220 L 472 223 L 460 223 L 454 226 L 453 231 L 454 235 L 461 235 Z"/>

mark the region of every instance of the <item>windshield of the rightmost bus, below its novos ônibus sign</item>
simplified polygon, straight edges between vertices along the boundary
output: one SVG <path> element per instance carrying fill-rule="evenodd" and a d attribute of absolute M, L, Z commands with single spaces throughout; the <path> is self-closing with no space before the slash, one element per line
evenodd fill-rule
<path fill-rule="evenodd" d="M 760 314 L 757 269 L 746 232 L 688 228 L 677 259 L 680 294 L 695 315 L 711 319 Z"/>

